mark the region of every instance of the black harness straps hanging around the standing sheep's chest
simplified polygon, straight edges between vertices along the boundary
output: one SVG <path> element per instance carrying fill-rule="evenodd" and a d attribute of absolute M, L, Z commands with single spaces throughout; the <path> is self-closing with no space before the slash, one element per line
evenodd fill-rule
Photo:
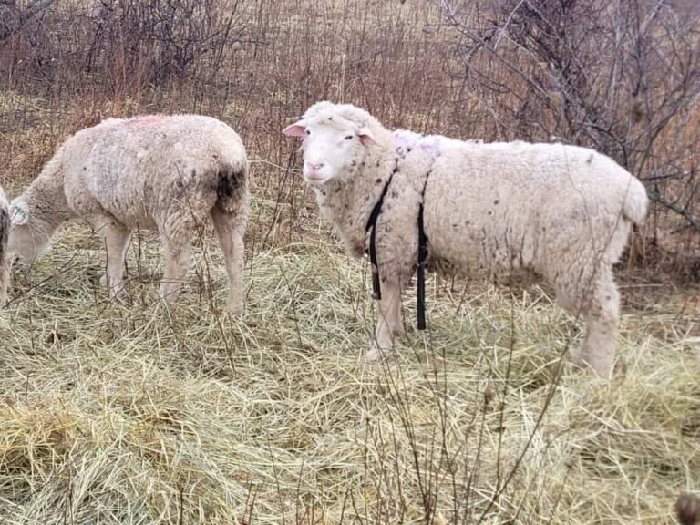
<path fill-rule="evenodd" d="M 384 198 L 386 197 L 386 192 L 389 190 L 389 185 L 391 180 L 394 178 L 394 174 L 398 171 L 398 160 L 396 159 L 396 165 L 394 170 L 392 170 L 389 179 L 386 180 L 384 185 L 384 190 L 379 196 L 379 200 L 376 201 L 375 207 L 372 209 L 372 213 L 369 214 L 369 219 L 365 226 L 365 232 L 369 232 L 369 262 L 372 264 L 372 296 L 379 300 L 382 298 L 382 287 L 379 279 L 379 263 L 376 260 L 376 221 L 379 219 L 379 215 L 382 212 L 382 204 L 384 204 Z M 427 177 L 430 175 L 428 171 L 426 176 L 426 182 L 423 185 L 423 192 L 421 194 L 420 208 L 418 209 L 418 266 L 417 266 L 417 328 L 418 330 L 426 329 L 426 260 L 427 260 L 427 235 L 423 225 L 423 200 L 426 194 Z M 371 232 L 370 232 L 371 229 Z"/>

